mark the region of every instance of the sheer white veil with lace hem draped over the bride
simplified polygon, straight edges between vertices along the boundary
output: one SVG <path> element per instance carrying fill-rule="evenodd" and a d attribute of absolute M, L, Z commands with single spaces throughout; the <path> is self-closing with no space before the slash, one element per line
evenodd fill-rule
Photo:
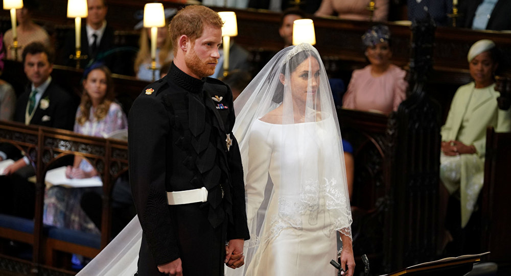
<path fill-rule="evenodd" d="M 305 220 L 325 236 L 339 231 L 351 238 L 341 135 L 317 50 L 304 43 L 277 53 L 234 107 L 250 240 L 245 265 L 226 274 L 251 274 L 258 249 Z"/>

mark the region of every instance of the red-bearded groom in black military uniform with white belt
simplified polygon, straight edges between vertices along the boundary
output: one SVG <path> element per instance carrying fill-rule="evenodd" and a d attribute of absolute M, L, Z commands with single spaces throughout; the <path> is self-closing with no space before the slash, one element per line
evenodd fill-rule
<path fill-rule="evenodd" d="M 234 109 L 215 71 L 222 21 L 204 6 L 169 27 L 174 62 L 129 113 L 131 189 L 142 225 L 138 276 L 223 275 L 249 238 Z M 228 245 L 226 245 L 228 242 Z"/>

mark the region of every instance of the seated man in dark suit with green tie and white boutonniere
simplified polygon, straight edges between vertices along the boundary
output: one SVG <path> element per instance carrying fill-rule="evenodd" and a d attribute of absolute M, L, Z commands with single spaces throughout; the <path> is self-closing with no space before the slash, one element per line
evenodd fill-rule
<path fill-rule="evenodd" d="M 16 103 L 14 121 L 37 124 L 44 127 L 71 130 L 73 128 L 74 106 L 71 96 L 62 90 L 50 76 L 53 70 L 53 53 L 41 42 L 32 42 L 23 49 L 22 61 L 31 84 Z M 0 144 L 0 161 L 17 160 L 4 173 L 9 175 L 10 185 L 2 185 L 0 201 L 9 210 L 4 213 L 31 218 L 34 214 L 34 185 L 27 178 L 35 174 L 31 159 L 22 156 L 19 149 L 10 144 Z M 2 184 L 9 180 L 4 177 Z"/>

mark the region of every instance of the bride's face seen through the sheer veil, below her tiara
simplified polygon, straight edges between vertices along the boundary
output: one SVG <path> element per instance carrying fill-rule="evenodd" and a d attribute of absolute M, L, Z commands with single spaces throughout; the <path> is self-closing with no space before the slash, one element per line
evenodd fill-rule
<path fill-rule="evenodd" d="M 290 81 L 293 100 L 305 103 L 307 95 L 314 99 L 319 82 L 319 63 L 316 58 L 308 57 L 300 63 L 291 73 Z"/>

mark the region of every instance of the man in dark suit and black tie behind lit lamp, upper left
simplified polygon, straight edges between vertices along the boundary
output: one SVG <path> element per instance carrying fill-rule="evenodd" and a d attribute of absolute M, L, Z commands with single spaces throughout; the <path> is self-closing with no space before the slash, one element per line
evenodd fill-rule
<path fill-rule="evenodd" d="M 113 73 L 123 73 L 118 53 L 109 52 L 114 48 L 114 30 L 108 26 L 105 20 L 108 11 L 105 0 L 88 0 L 87 7 L 88 16 L 80 32 L 81 55 L 86 55 L 87 59 L 80 62 L 80 67 L 84 68 L 91 62 L 101 61 Z M 71 31 L 64 42 L 59 63 L 71 67 L 76 66 L 76 61 L 69 58 L 69 56 L 75 55 L 75 43 L 75 31 Z"/>

